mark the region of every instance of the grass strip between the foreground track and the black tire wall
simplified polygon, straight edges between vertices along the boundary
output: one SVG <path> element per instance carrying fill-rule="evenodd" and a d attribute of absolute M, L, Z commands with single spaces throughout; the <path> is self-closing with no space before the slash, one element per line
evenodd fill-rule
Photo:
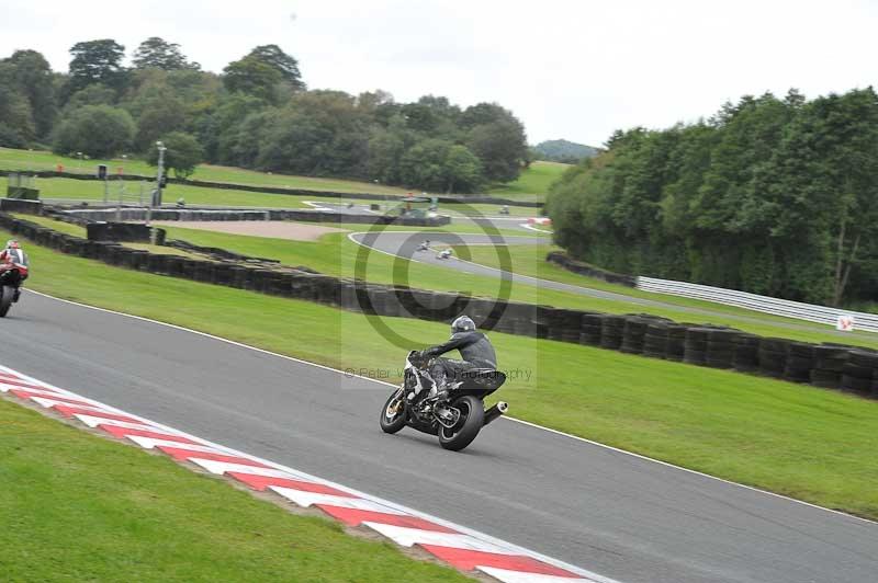
<path fill-rule="evenodd" d="M 59 297 L 337 368 L 394 369 L 403 354 L 362 315 L 111 267 L 31 243 L 27 250 L 33 264 L 29 285 Z M 448 334 L 440 323 L 384 322 L 412 339 L 413 347 Z M 500 368 L 531 373 L 500 391 L 515 416 L 878 517 L 878 402 L 576 344 L 500 333 L 492 339 Z M 23 538 L 34 544 L 32 536 Z"/>

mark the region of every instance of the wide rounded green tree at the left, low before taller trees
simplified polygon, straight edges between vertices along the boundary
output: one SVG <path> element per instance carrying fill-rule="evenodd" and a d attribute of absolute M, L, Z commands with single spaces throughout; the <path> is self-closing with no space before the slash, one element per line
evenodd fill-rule
<path fill-rule="evenodd" d="M 109 158 L 127 150 L 134 137 L 128 112 L 110 105 L 86 105 L 70 112 L 55 132 L 52 150 Z"/>

